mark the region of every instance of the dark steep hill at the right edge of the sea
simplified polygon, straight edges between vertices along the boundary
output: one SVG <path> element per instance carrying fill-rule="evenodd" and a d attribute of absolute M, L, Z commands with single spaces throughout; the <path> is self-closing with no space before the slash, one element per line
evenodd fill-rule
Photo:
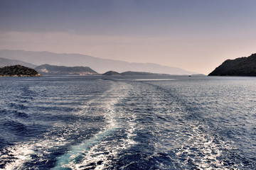
<path fill-rule="evenodd" d="M 238 76 L 255 77 L 256 76 L 256 53 L 250 57 L 240 57 L 235 60 L 225 60 L 208 76 Z"/>

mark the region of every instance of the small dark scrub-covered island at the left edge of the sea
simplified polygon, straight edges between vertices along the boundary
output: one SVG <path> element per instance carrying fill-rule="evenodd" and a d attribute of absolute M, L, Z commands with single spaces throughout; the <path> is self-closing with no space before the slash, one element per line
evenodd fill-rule
<path fill-rule="evenodd" d="M 0 77 L 42 77 L 42 75 L 35 69 L 14 65 L 0 68 Z"/>

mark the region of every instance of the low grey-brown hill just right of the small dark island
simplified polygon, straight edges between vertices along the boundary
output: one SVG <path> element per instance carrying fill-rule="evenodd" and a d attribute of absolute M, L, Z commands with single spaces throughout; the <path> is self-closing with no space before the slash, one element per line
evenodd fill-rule
<path fill-rule="evenodd" d="M 35 68 L 43 75 L 95 75 L 98 74 L 90 67 L 65 67 L 43 64 Z"/>

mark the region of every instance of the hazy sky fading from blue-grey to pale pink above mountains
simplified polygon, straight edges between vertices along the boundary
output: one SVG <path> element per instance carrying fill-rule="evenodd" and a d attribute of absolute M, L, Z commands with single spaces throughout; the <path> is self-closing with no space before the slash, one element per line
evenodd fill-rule
<path fill-rule="evenodd" d="M 209 74 L 256 53 L 255 0 L 0 0 L 0 49 Z"/>

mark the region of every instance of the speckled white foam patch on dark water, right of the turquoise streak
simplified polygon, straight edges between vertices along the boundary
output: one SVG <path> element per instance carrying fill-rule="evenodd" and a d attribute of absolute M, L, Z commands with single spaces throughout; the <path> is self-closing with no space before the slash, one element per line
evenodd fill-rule
<path fill-rule="evenodd" d="M 205 134 L 202 126 L 199 122 L 188 126 L 188 140 L 178 149 L 176 157 L 193 162 L 198 169 L 236 169 L 235 165 L 227 166 L 220 159 L 223 151 L 234 148 L 214 135 Z"/>

